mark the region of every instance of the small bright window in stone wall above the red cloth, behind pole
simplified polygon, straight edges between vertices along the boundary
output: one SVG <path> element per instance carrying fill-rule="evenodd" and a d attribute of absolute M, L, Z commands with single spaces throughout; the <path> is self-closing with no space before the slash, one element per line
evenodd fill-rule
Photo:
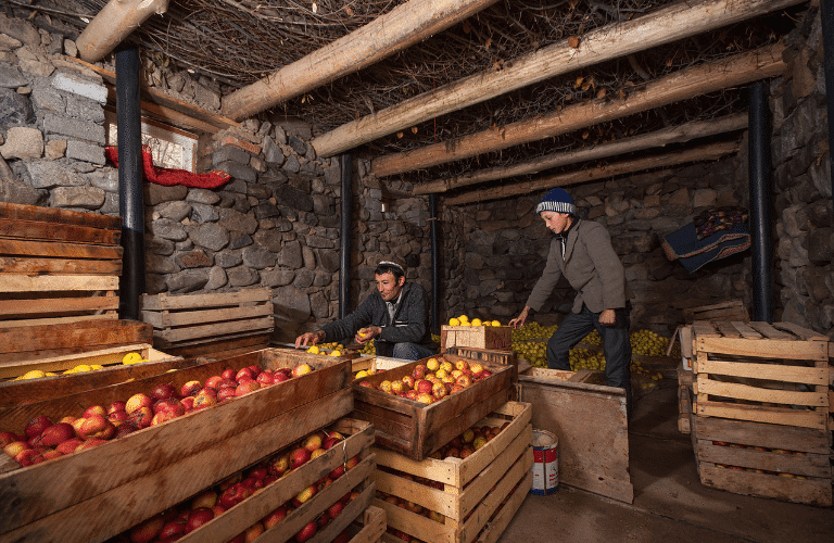
<path fill-rule="evenodd" d="M 117 144 L 118 127 L 116 113 L 110 108 L 104 110 L 106 121 L 108 144 Z M 142 144 L 151 149 L 153 163 L 166 168 L 187 169 L 193 172 L 197 162 L 198 138 L 173 126 L 142 117 Z"/>

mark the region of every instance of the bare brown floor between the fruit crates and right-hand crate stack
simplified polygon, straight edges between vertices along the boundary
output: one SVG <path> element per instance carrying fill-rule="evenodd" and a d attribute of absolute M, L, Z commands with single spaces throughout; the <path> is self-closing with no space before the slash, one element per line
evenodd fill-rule
<path fill-rule="evenodd" d="M 700 484 L 678 431 L 677 382 L 637 400 L 629 431 L 634 503 L 560 485 L 528 495 L 498 543 L 834 543 L 834 508 L 742 496 Z"/>

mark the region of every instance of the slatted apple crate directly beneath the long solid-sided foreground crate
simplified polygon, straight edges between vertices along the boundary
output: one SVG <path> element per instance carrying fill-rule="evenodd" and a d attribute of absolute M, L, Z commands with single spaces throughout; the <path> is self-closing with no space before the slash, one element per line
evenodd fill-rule
<path fill-rule="evenodd" d="M 351 541 L 375 494 L 372 442 L 369 424 L 339 419 L 110 541 Z"/>

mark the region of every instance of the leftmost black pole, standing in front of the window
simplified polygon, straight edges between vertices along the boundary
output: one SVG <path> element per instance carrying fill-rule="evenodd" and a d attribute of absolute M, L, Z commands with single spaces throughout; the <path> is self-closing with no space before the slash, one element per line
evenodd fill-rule
<path fill-rule="evenodd" d="M 118 126 L 118 212 L 122 215 L 119 315 L 138 320 L 144 293 L 144 198 L 142 195 L 142 123 L 139 105 L 139 50 L 116 52 Z"/>

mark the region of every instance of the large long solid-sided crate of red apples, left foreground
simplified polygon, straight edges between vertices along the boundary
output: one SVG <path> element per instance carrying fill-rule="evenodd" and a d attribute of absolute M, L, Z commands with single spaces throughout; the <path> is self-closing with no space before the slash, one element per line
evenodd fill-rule
<path fill-rule="evenodd" d="M 0 409 L 0 539 L 104 541 L 348 415 L 350 381 L 263 350 Z"/>

